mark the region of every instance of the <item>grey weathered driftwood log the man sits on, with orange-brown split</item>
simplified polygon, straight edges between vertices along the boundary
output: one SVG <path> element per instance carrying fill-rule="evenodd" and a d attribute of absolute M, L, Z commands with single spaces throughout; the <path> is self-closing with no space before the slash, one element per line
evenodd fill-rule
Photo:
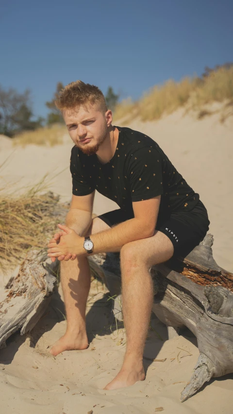
<path fill-rule="evenodd" d="M 233 372 L 233 273 L 219 267 L 207 234 L 185 258 L 152 266 L 154 314 L 166 324 L 168 338 L 187 327 L 197 337 L 200 356 L 181 401 L 212 377 Z M 122 320 L 119 253 L 88 258 L 92 271 L 115 296 L 114 313 Z"/>

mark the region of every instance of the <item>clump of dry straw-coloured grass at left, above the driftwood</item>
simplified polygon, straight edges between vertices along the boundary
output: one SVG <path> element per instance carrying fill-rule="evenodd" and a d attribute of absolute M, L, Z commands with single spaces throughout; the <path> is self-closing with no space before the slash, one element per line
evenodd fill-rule
<path fill-rule="evenodd" d="M 0 266 L 17 264 L 27 250 L 44 248 L 56 228 L 54 212 L 58 198 L 47 189 L 47 176 L 18 197 L 0 188 Z M 9 190 L 9 188 L 8 188 Z"/>

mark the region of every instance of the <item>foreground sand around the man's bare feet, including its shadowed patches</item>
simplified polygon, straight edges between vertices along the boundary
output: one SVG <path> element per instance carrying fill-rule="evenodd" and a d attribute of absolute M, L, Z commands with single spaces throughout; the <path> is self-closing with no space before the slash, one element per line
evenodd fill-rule
<path fill-rule="evenodd" d="M 198 359 L 196 338 L 187 331 L 167 340 L 166 327 L 156 317 L 151 326 L 163 340 L 150 330 L 144 356 L 166 361 L 145 359 L 145 381 L 120 390 L 103 390 L 122 364 L 125 332 L 120 324 L 116 330 L 109 293 L 96 280 L 91 284 L 86 315 L 90 347 L 52 357 L 47 347 L 66 330 L 60 294 L 59 288 L 49 312 L 30 335 L 13 335 L 7 348 L 0 351 L 2 414 L 41 414 L 42 410 L 44 414 L 87 414 L 91 410 L 93 414 L 152 414 L 157 407 L 168 414 L 232 413 L 231 375 L 211 380 L 198 394 L 180 402 Z"/>

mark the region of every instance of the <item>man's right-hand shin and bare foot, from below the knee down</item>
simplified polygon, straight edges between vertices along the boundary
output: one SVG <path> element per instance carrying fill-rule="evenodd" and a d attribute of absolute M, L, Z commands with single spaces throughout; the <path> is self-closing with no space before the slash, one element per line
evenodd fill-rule
<path fill-rule="evenodd" d="M 153 300 L 151 277 L 145 266 L 123 270 L 122 310 L 127 348 L 122 368 L 104 389 L 111 390 L 145 380 L 143 349 Z"/>

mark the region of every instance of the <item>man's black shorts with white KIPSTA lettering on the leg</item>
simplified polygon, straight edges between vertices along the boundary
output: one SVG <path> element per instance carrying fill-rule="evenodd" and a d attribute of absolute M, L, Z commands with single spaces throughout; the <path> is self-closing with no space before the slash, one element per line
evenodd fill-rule
<path fill-rule="evenodd" d="M 98 217 L 110 227 L 133 218 L 132 214 L 122 209 L 109 211 Z M 155 230 L 166 234 L 171 240 L 175 256 L 185 257 L 203 240 L 209 224 L 207 210 L 199 200 L 191 211 L 173 212 L 169 217 L 158 220 Z"/>

